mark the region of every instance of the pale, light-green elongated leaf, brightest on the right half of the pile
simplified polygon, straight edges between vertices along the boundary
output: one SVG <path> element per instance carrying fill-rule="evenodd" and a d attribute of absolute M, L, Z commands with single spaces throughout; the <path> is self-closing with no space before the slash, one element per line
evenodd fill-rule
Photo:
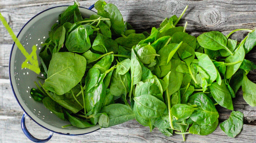
<path fill-rule="evenodd" d="M 216 70 L 214 64 L 212 63 L 212 61 L 208 55 L 203 54 L 203 53 L 198 53 L 198 52 L 195 52 L 195 54 L 199 60 L 198 65 L 201 68 L 203 68 L 205 70 L 205 72 L 209 75 L 208 84 L 211 84 L 217 78 L 217 70 Z"/>

